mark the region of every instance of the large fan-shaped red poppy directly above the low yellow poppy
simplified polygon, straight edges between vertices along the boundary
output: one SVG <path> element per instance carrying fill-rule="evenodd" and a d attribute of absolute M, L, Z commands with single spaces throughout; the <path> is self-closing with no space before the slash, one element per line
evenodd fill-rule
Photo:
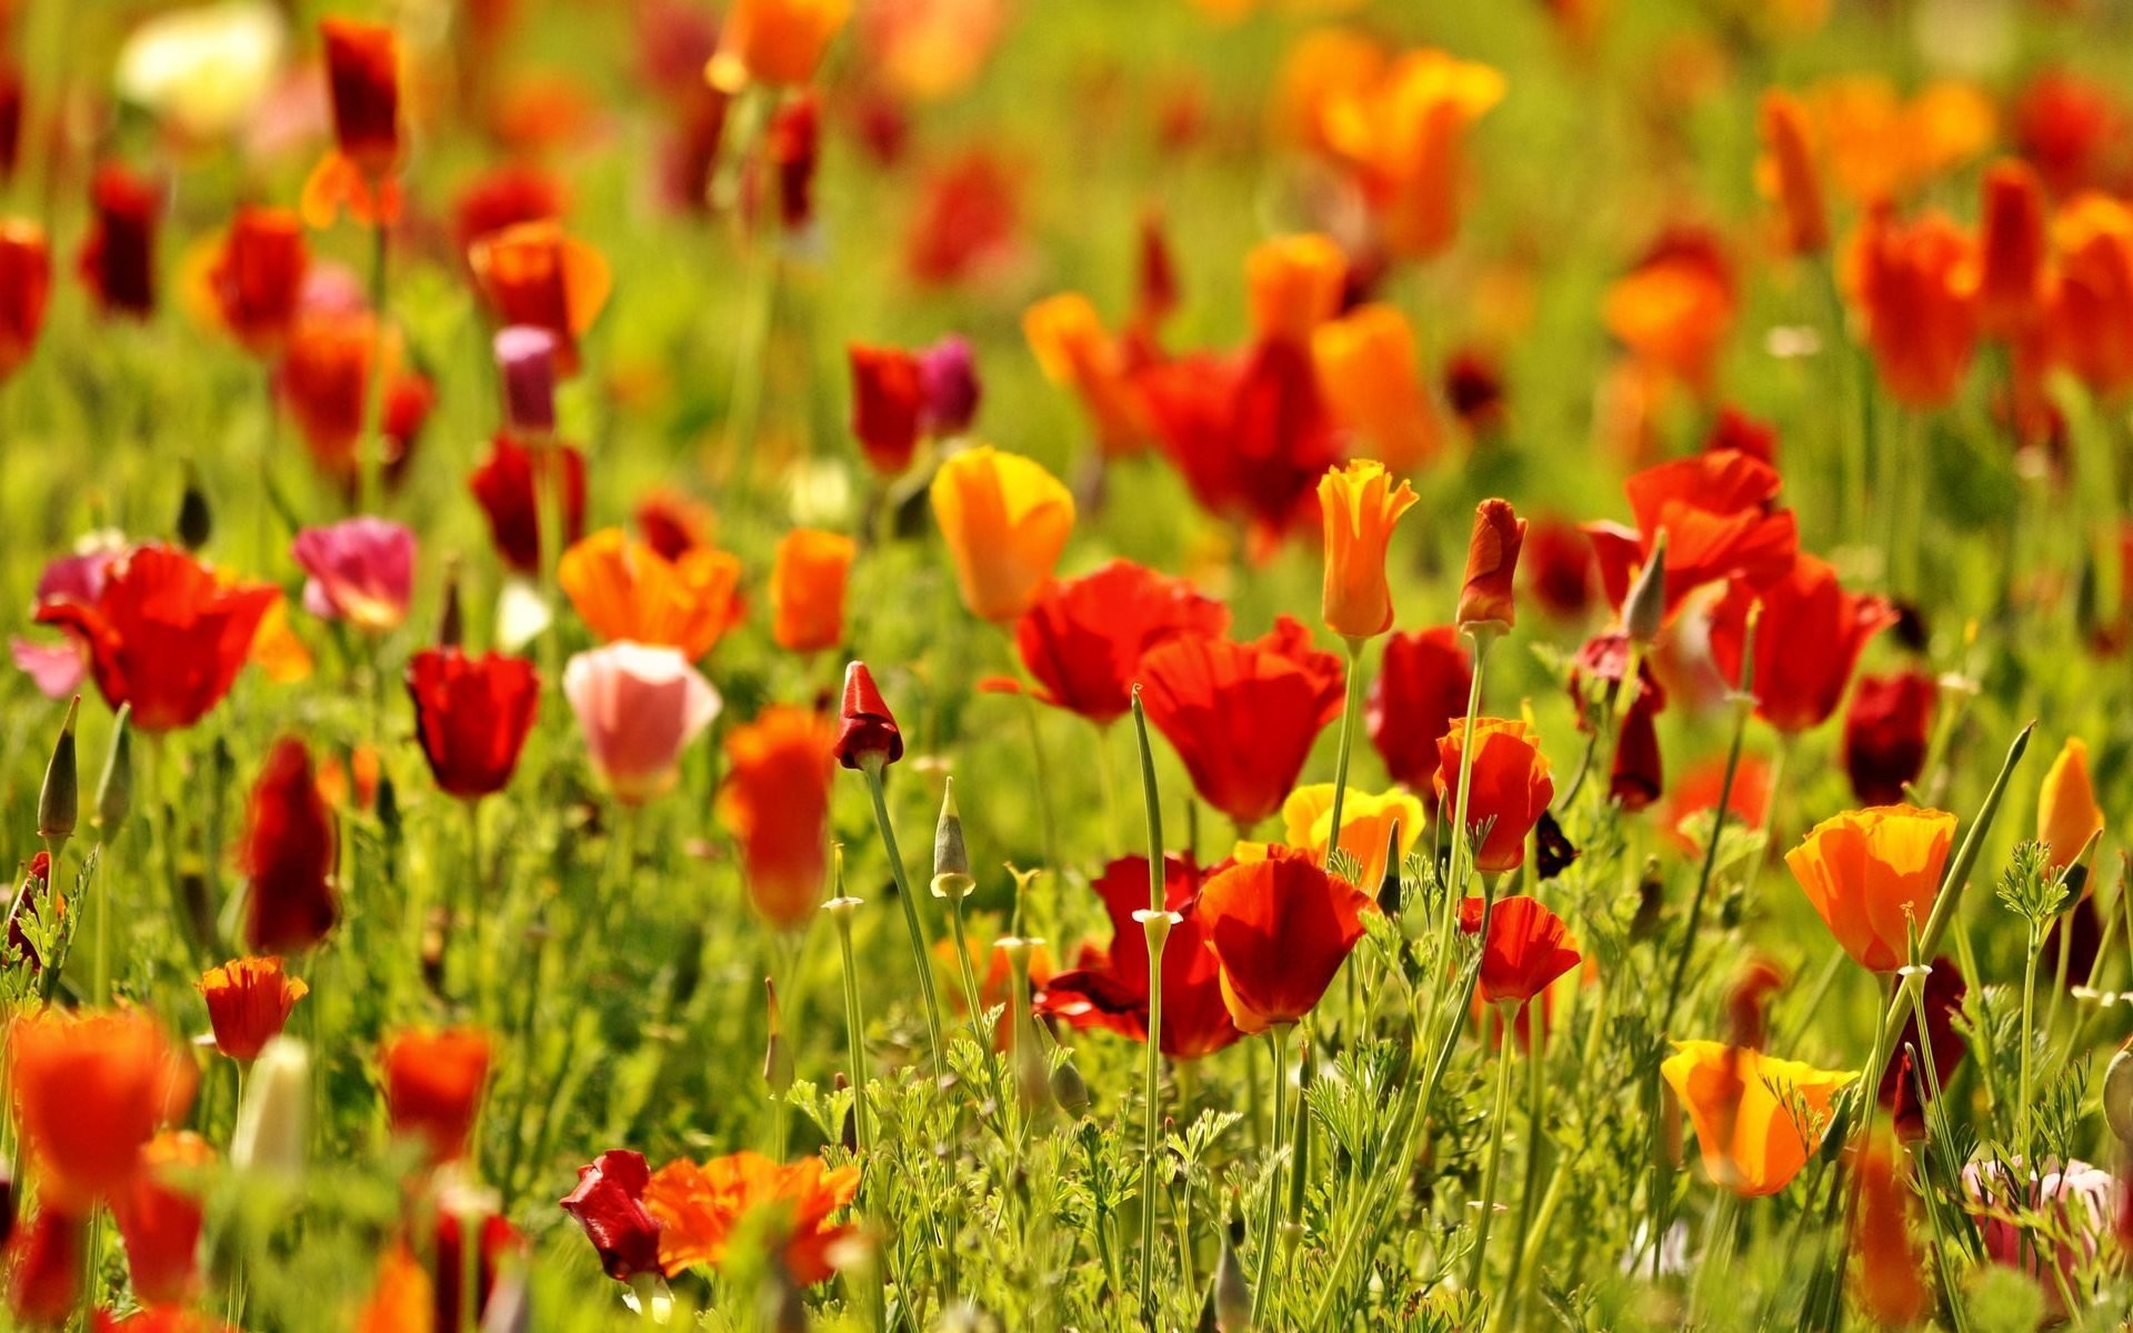
<path fill-rule="evenodd" d="M 1282 806 L 1312 742 L 1342 710 L 1340 657 L 1280 616 L 1250 642 L 1177 636 L 1141 657 L 1148 721 L 1169 738 L 1201 800 L 1248 830 Z"/>

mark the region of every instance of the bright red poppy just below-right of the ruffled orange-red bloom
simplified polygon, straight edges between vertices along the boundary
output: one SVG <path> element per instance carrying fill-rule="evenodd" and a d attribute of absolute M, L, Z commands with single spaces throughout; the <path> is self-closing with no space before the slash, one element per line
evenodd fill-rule
<path fill-rule="evenodd" d="M 1734 580 L 1713 608 L 1711 657 L 1728 680 L 1741 680 L 1747 614 L 1758 601 L 1755 717 L 1779 732 L 1828 721 L 1866 640 L 1896 623 L 1886 597 L 1845 591 L 1828 561 L 1802 550 L 1783 578 L 1753 589 Z"/>

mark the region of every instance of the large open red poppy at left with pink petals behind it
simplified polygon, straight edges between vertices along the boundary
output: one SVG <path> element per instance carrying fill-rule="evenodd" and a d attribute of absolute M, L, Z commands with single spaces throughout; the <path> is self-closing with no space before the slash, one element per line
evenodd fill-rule
<path fill-rule="evenodd" d="M 224 582 L 183 550 L 149 544 L 109 565 L 94 601 L 62 593 L 38 604 L 36 621 L 81 638 L 107 704 L 132 704 L 132 725 L 169 732 L 230 693 L 279 597 L 271 584 Z"/>

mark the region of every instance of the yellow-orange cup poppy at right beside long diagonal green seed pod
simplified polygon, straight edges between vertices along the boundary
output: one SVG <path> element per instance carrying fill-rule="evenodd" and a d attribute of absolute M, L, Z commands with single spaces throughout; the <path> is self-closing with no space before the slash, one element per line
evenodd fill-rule
<path fill-rule="evenodd" d="M 1845 953 L 1888 973 L 1911 953 L 1911 924 L 1926 928 L 1954 834 L 1945 810 L 1866 806 L 1817 823 L 1785 866 Z"/>

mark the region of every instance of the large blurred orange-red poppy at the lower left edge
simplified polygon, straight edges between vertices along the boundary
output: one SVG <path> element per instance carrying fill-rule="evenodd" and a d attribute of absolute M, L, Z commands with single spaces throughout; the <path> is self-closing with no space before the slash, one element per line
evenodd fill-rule
<path fill-rule="evenodd" d="M 192 1101 L 192 1077 L 147 1013 L 45 1009 L 15 1019 L 9 1088 L 45 1199 L 85 1209 L 119 1190 L 156 1128 Z"/>

